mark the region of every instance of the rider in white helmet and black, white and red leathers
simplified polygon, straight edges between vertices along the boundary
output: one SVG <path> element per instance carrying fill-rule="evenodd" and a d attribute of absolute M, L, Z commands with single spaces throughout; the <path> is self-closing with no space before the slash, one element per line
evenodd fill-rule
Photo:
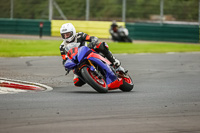
<path fill-rule="evenodd" d="M 98 42 L 98 38 L 95 36 L 89 36 L 86 33 L 79 32 L 76 33 L 76 29 L 71 23 L 65 23 L 60 28 L 60 34 L 63 38 L 63 42 L 60 45 L 60 53 L 63 59 L 63 65 L 65 64 L 67 57 L 67 51 L 65 50 L 65 46 L 69 43 L 75 42 L 80 43 L 80 46 L 87 46 L 91 49 L 94 49 L 96 52 L 102 53 L 115 67 L 119 67 L 121 65 L 120 61 L 116 59 L 112 53 L 108 49 L 108 45 L 105 42 Z M 87 44 L 86 42 L 90 42 Z M 65 68 L 67 73 L 69 70 Z M 74 74 L 74 85 L 75 86 L 82 86 L 85 84 L 81 79 L 78 78 L 76 74 Z"/>

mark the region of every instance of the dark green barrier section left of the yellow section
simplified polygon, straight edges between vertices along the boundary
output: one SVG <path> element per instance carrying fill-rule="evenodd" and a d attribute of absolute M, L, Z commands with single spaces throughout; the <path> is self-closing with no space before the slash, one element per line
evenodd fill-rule
<path fill-rule="evenodd" d="M 31 19 L 0 19 L 0 33 L 2 34 L 40 34 L 40 22 L 43 23 L 43 35 L 51 35 L 51 22 L 47 20 Z"/>

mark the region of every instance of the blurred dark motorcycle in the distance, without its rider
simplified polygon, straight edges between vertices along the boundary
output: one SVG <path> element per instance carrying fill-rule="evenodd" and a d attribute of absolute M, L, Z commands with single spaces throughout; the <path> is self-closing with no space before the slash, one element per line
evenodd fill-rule
<path fill-rule="evenodd" d="M 110 29 L 110 34 L 112 36 L 113 41 L 132 42 L 132 39 L 128 36 L 128 29 L 122 26 L 119 26 L 117 32 L 113 32 L 112 29 Z"/>

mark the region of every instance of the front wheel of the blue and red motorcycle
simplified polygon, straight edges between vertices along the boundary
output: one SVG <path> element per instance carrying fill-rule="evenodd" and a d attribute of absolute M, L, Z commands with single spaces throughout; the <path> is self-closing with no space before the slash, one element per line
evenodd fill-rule
<path fill-rule="evenodd" d="M 96 76 L 94 72 L 92 72 L 88 67 L 83 67 L 81 69 L 81 74 L 85 81 L 97 92 L 99 93 L 107 93 L 108 86 L 103 78 L 99 78 Z"/>

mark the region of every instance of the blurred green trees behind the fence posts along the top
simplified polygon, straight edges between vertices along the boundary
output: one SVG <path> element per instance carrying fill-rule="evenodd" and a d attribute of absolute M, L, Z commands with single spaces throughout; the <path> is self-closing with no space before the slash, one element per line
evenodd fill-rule
<path fill-rule="evenodd" d="M 13 0 L 13 17 L 48 19 L 49 0 Z M 85 20 L 86 0 L 54 0 L 70 20 Z M 0 0 L 0 18 L 10 18 L 11 0 Z M 164 14 L 175 21 L 198 21 L 199 0 L 165 0 Z M 160 0 L 126 0 L 126 20 L 145 21 L 160 15 Z M 122 18 L 122 0 L 90 0 L 89 20 Z M 62 19 L 53 8 L 53 19 Z"/>

